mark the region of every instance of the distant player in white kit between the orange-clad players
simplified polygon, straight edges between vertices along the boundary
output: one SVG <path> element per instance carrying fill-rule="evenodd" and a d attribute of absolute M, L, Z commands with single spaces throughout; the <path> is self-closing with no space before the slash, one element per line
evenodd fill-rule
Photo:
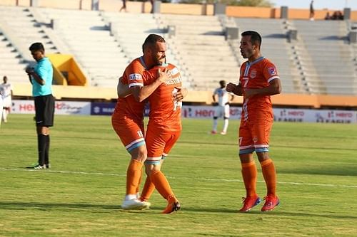
<path fill-rule="evenodd" d="M 211 134 L 217 133 L 218 117 L 223 117 L 224 124 L 221 135 L 226 135 L 228 129 L 229 102 L 233 100 L 234 96 L 226 91 L 226 82 L 224 80 L 220 80 L 219 85 L 221 85 L 221 87 L 216 88 L 212 95 L 215 111 L 213 115 L 213 129 Z M 216 98 L 218 98 L 218 100 Z"/>

